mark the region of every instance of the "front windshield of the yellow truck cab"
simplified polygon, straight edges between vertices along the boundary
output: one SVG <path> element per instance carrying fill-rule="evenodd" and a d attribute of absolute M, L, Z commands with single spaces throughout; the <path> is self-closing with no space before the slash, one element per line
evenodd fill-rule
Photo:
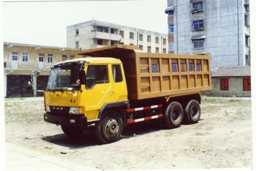
<path fill-rule="evenodd" d="M 84 63 L 64 63 L 52 68 L 46 90 L 79 89 L 79 70 L 84 69 Z"/>

